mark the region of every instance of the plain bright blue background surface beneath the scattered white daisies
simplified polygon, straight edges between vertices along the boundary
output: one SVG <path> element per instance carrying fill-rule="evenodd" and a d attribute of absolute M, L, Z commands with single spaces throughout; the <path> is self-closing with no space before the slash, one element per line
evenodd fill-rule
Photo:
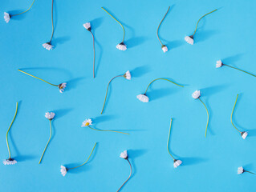
<path fill-rule="evenodd" d="M 122 191 L 254 191 L 255 176 L 237 174 L 238 166 L 256 171 L 254 114 L 255 78 L 228 67 L 215 68 L 218 59 L 256 74 L 254 65 L 255 1 L 55 1 L 55 50 L 42 44 L 51 37 L 51 0 L 35 1 L 26 14 L 6 24 L 3 12 L 26 10 L 31 1 L 2 1 L 0 12 L 0 158 L 8 157 L 6 130 L 19 102 L 18 116 L 10 130 L 10 150 L 15 166 L 1 165 L 1 191 L 116 191 L 128 178 L 128 163 L 119 158 L 128 150 L 132 178 Z M 101 10 L 104 6 L 124 24 L 128 50 L 116 49 L 123 31 Z M 163 53 L 156 38 L 169 47 Z M 202 19 L 193 46 L 184 41 Z M 92 38 L 83 28 L 91 22 L 95 34 L 95 75 L 92 78 Z M 30 74 L 52 83 L 67 82 L 59 94 Z M 110 86 L 104 114 L 100 111 L 108 81 L 131 70 L 132 80 L 116 78 Z M 136 99 L 154 78 L 171 78 L 185 85 L 154 82 L 150 102 Z M 191 94 L 201 89 L 206 112 Z M 236 94 L 234 122 L 248 130 L 243 140 L 230 123 Z M 54 111 L 54 136 L 38 164 L 49 137 L 44 117 Z M 130 135 L 81 128 L 85 118 L 95 127 L 123 130 Z M 169 121 L 173 118 L 170 149 L 184 163 L 173 168 L 166 150 Z M 77 166 L 99 142 L 86 166 L 63 178 L 60 165 Z"/>

